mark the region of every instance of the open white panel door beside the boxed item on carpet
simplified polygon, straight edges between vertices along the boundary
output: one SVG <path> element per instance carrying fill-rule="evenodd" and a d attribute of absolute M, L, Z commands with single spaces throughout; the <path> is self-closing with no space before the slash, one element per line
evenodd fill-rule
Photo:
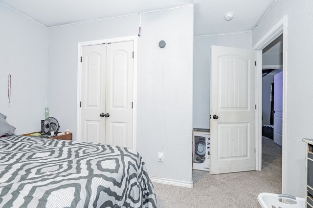
<path fill-rule="evenodd" d="M 255 170 L 255 51 L 211 46 L 210 174 Z"/>

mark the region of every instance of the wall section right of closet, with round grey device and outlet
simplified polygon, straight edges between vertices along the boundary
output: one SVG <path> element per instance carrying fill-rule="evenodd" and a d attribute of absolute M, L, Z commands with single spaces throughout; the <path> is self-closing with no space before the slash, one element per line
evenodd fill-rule
<path fill-rule="evenodd" d="M 138 151 L 154 176 L 191 182 L 193 6 L 145 14 L 141 25 Z"/>

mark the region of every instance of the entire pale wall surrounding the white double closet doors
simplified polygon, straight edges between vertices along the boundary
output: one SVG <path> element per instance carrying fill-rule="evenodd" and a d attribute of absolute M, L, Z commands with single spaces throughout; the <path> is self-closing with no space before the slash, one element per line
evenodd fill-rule
<path fill-rule="evenodd" d="M 49 28 L 48 105 L 62 131 L 76 132 L 77 43 L 137 35 L 138 27 L 134 15 Z M 137 151 L 150 176 L 191 182 L 193 6 L 143 14 L 141 27 Z M 164 49 L 158 47 L 161 39 Z M 157 162 L 161 150 L 163 163 Z"/>

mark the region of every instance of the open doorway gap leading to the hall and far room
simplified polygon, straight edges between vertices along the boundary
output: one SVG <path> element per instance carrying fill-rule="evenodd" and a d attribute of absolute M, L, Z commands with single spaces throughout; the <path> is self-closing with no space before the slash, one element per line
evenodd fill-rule
<path fill-rule="evenodd" d="M 273 189 L 281 192 L 283 35 L 263 50 L 262 70 L 262 171 L 267 172 Z"/>

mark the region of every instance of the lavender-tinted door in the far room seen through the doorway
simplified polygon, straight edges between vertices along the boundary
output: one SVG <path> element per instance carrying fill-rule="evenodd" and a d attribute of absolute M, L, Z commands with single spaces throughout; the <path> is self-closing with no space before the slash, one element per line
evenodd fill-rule
<path fill-rule="evenodd" d="M 274 142 L 283 142 L 283 72 L 274 75 Z"/>

